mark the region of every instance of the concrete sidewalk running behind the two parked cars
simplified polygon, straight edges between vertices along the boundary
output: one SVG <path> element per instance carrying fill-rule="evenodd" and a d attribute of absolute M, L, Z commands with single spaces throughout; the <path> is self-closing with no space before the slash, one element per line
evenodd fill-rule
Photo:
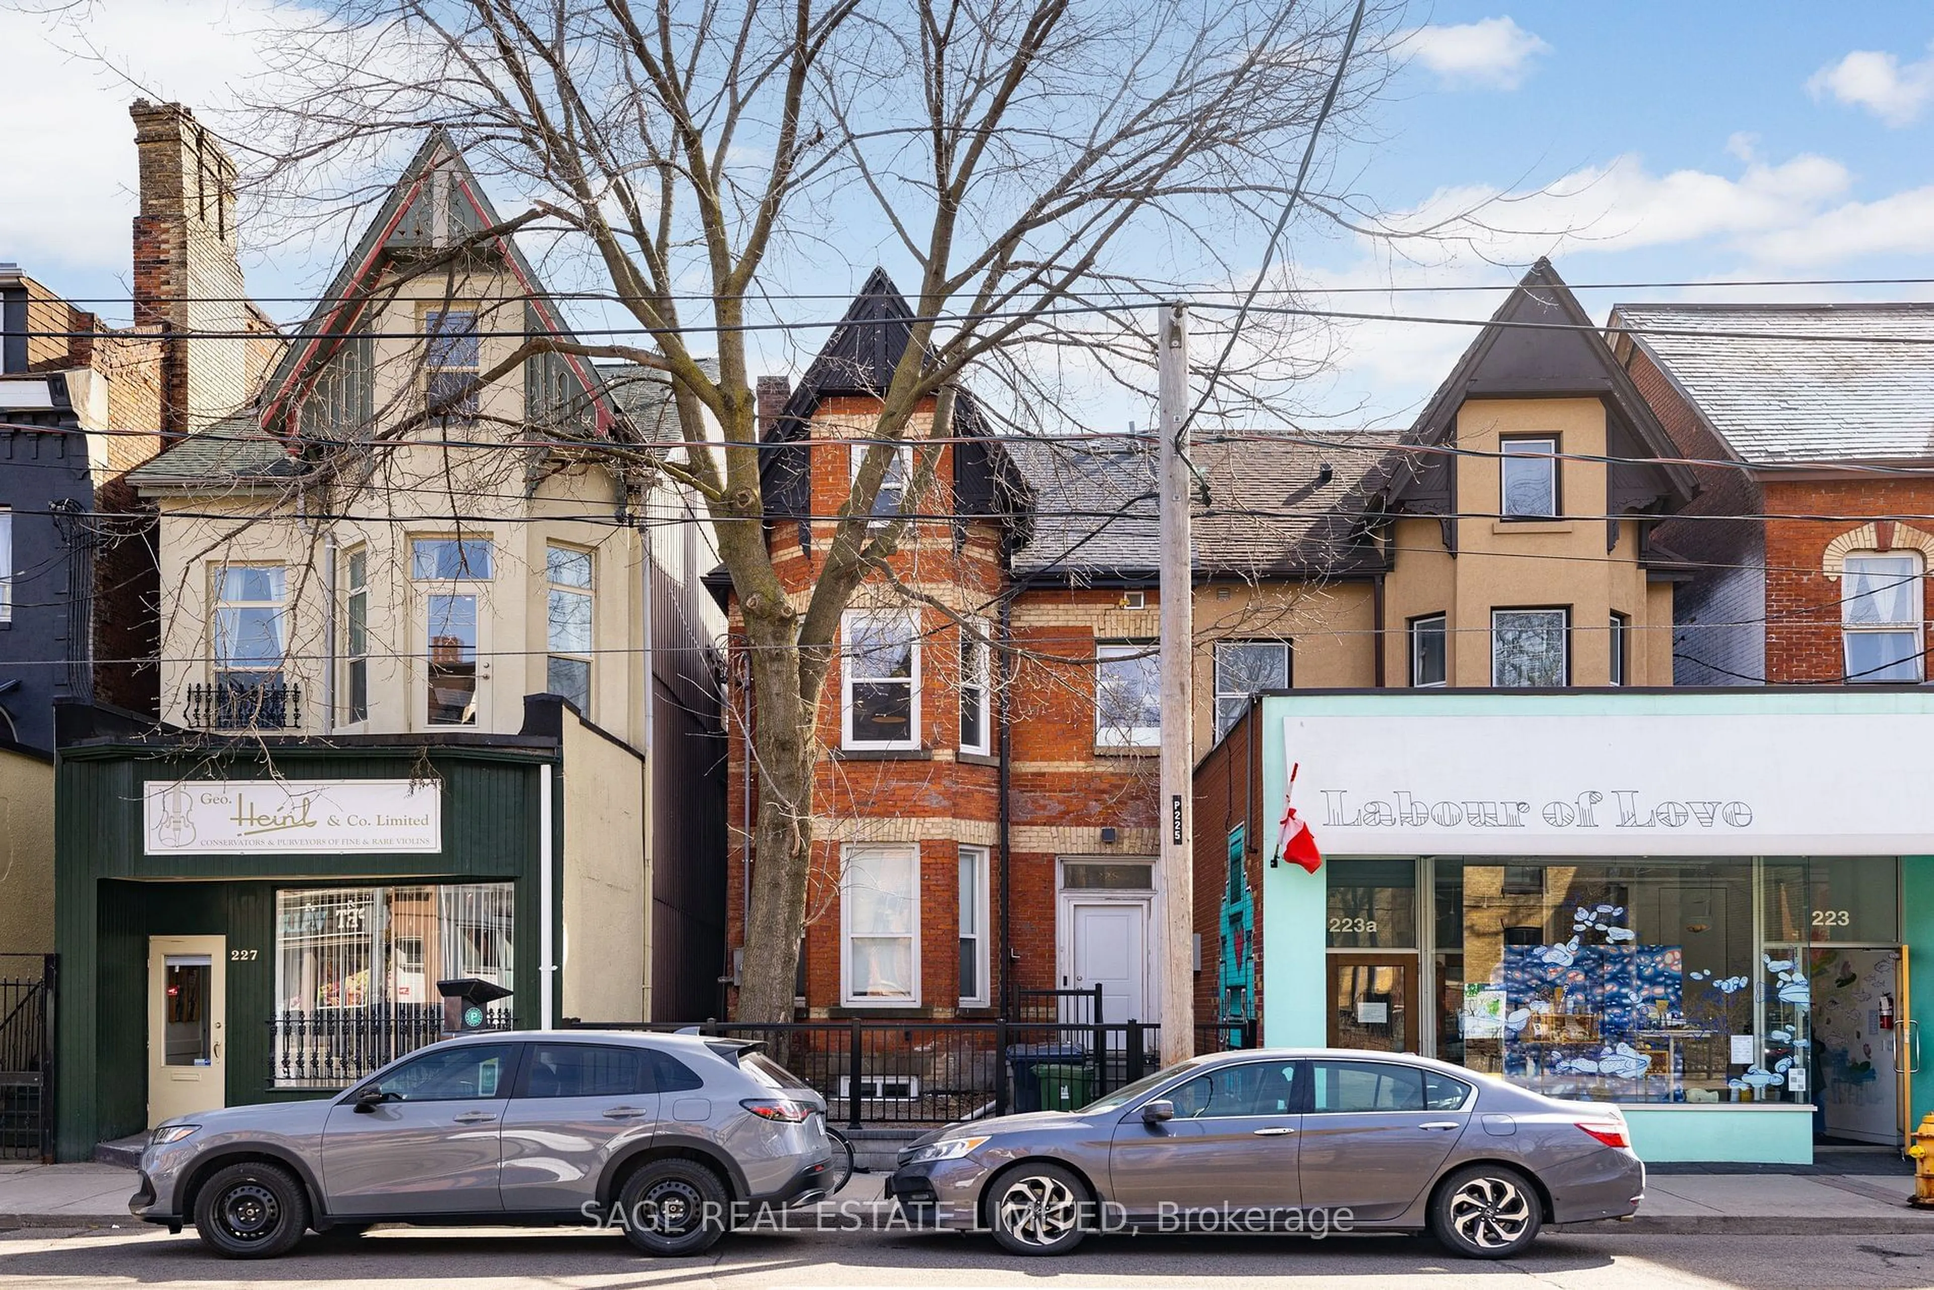
<path fill-rule="evenodd" d="M 857 1174 L 822 1207 L 839 1215 L 874 1207 L 884 1174 Z M 128 1217 L 133 1172 L 116 1164 L 0 1164 L 0 1230 L 141 1226 Z M 1625 1222 L 1570 1224 L 1594 1234 L 1928 1234 L 1934 1211 L 1907 1207 L 1915 1180 L 1843 1174 L 1656 1174 L 1646 1182 L 1638 1217 Z M 855 1209 L 859 1207 L 859 1209 Z"/>

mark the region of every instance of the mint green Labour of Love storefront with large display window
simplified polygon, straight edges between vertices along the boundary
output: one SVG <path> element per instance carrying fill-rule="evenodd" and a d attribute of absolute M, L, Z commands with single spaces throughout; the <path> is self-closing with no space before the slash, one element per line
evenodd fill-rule
<path fill-rule="evenodd" d="M 1615 1100 L 1648 1160 L 1808 1162 L 1934 1108 L 1934 694 L 1265 694 L 1323 849 L 1261 884 L 1263 1039 Z"/>

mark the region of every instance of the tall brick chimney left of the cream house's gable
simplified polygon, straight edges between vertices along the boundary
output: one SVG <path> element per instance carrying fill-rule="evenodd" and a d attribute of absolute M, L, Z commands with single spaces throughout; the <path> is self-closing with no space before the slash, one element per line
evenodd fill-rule
<path fill-rule="evenodd" d="M 249 329 L 236 257 L 236 164 L 180 103 L 135 99 L 141 213 L 133 220 L 133 321 L 178 333 L 162 346 L 162 429 L 191 433 L 248 396 Z"/>

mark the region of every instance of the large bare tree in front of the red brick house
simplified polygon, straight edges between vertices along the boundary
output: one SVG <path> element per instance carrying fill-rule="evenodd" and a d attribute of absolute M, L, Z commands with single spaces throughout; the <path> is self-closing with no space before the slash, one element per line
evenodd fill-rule
<path fill-rule="evenodd" d="M 756 719 L 754 865 L 739 1010 L 783 1019 L 806 917 L 814 723 L 841 611 L 905 542 L 876 522 L 895 445 L 950 433 L 948 391 L 1000 385 L 1013 433 L 1066 416 L 1062 364 L 1147 395 L 1143 315 L 1249 280 L 1288 217 L 1342 220 L 1311 141 L 1385 85 L 1398 0 L 335 0 L 280 43 L 236 116 L 261 191 L 373 174 L 424 128 L 576 253 L 627 337 L 545 348 L 669 373 L 683 437 L 661 468 L 710 511 L 737 592 Z M 1327 147 L 1327 143 L 1325 143 Z M 335 188 L 352 193 L 354 184 Z M 810 588 L 768 551 L 754 398 L 766 317 L 816 321 L 851 246 L 913 265 L 911 344 Z M 849 261 L 851 263 L 851 261 Z M 861 261 L 864 267 L 864 261 Z M 1269 400 L 1292 360 L 1253 321 L 1201 373 L 1216 408 Z M 1240 362 L 1238 362 L 1240 360 Z M 501 373 L 484 373 L 489 379 Z"/>

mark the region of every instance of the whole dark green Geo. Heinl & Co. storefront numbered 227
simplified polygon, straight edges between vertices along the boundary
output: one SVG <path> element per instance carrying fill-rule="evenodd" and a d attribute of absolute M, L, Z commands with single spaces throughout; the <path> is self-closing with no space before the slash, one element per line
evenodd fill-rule
<path fill-rule="evenodd" d="M 439 975 L 474 971 L 514 982 L 509 1021 L 549 1021 L 557 973 L 543 955 L 561 944 L 559 777 L 561 741 L 542 735 L 321 745 L 104 733 L 64 743 L 56 770 L 58 1158 L 87 1158 L 97 1143 L 149 1128 L 161 1110 L 155 1079 L 213 1079 L 219 1087 L 199 1097 L 215 1106 L 317 1097 L 327 1079 L 313 1071 L 304 1081 L 278 1077 L 290 1058 L 277 1052 L 273 1023 L 292 1008 L 308 1025 L 325 1015 L 340 1025 L 356 1011 L 352 1004 L 367 1011 L 393 998 L 396 981 L 404 998 L 427 1006 Z M 157 795 L 203 789 L 213 799 L 224 785 L 277 781 L 309 785 L 302 791 L 323 803 L 317 814 L 333 799 L 383 789 L 431 803 L 437 818 L 410 851 L 366 849 L 354 839 L 338 851 L 255 851 L 226 839 L 228 849 L 197 853 L 182 841 L 180 824 L 174 847 L 155 845 L 155 803 L 182 801 Z M 263 787 L 257 799 L 271 793 Z M 265 836 L 282 826 L 269 816 L 246 822 Z M 414 822 L 422 826 L 420 816 Z M 431 911 L 427 926 L 412 928 L 396 913 L 402 895 Z M 298 926 L 304 919 L 313 926 Z M 449 942 L 441 950 L 439 926 Z M 296 944 L 304 938 L 321 950 Z M 162 969 L 170 948 L 193 953 L 172 955 Z M 207 990 L 205 981 L 219 986 L 207 1006 L 180 998 Z M 346 1070 L 369 1054 L 329 1056 Z"/>

